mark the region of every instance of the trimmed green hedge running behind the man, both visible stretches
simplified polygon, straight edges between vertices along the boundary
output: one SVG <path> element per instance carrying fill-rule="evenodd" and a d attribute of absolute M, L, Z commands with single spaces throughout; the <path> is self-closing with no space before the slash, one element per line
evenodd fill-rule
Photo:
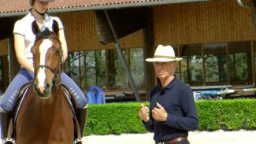
<path fill-rule="evenodd" d="M 149 103 L 147 103 L 149 105 Z M 256 129 L 256 100 L 195 102 L 198 131 Z M 140 103 L 89 105 L 85 135 L 147 132 L 139 119 Z"/>

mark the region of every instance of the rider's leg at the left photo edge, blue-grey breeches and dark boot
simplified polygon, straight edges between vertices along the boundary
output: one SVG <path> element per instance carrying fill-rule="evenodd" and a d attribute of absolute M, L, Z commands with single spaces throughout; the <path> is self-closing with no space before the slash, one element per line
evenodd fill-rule
<path fill-rule="evenodd" d="M 21 68 L 17 76 L 14 77 L 13 81 L 9 83 L 5 94 L 3 94 L 0 101 L 1 107 L 1 131 L 2 138 L 6 138 L 8 131 L 8 124 L 10 120 L 10 112 L 13 110 L 13 102 L 15 101 L 17 94 L 25 83 L 32 80 L 32 74 L 29 73 L 25 68 Z"/>

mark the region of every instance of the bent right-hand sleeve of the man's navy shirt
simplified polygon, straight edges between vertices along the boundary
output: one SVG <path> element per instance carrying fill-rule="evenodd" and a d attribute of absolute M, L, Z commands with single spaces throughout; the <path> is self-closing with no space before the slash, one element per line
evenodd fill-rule
<path fill-rule="evenodd" d="M 184 116 L 168 113 L 165 124 L 180 130 L 196 130 L 198 127 L 198 116 L 195 110 L 193 93 L 190 89 L 187 88 L 182 91 L 180 105 Z"/>

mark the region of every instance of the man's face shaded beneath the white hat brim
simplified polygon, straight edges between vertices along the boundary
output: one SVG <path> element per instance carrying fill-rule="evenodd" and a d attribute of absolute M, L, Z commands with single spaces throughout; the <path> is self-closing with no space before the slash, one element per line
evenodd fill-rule
<path fill-rule="evenodd" d="M 154 62 L 154 72 L 159 79 L 168 79 L 174 75 L 176 69 L 176 61 Z"/>

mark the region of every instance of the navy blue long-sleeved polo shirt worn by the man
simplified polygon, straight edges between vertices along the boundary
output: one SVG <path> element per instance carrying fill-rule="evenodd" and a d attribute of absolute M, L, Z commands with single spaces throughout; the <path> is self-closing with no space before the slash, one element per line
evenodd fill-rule
<path fill-rule="evenodd" d="M 150 120 L 144 124 L 147 131 L 154 132 L 155 142 L 187 137 L 188 131 L 197 129 L 198 116 L 192 90 L 179 79 L 174 78 L 165 88 L 154 87 L 150 98 L 150 112 L 158 102 L 168 113 L 165 122 L 154 120 L 150 113 Z"/>

